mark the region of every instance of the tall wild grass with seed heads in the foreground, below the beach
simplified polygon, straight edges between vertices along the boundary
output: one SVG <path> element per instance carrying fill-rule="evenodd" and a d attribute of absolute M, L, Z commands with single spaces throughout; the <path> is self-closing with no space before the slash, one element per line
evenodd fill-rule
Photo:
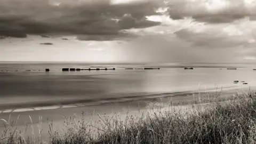
<path fill-rule="evenodd" d="M 226 101 L 220 101 L 220 94 L 199 94 L 188 106 L 151 102 L 147 110 L 127 111 L 124 118 L 98 115 L 94 122 L 85 114 L 66 117 L 62 131 L 49 122 L 48 141 L 34 133 L 24 138 L 26 126 L 20 132 L 15 123 L 2 119 L 6 130 L 0 143 L 256 143 L 255 93 L 244 92 Z"/>

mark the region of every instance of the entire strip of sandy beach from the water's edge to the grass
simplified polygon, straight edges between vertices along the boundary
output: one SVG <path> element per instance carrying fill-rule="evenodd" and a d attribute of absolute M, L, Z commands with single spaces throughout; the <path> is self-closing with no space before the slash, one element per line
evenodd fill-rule
<path fill-rule="evenodd" d="M 233 98 L 236 93 L 238 92 L 246 92 L 249 87 L 244 87 L 240 89 L 234 89 L 234 87 L 229 87 L 222 90 L 222 94 L 220 95 L 220 99 L 226 99 L 226 98 Z M 217 90 L 220 92 L 220 90 Z M 208 91 L 209 95 L 206 97 L 214 97 L 214 90 Z M 73 105 L 53 105 L 53 106 L 41 106 L 41 107 L 27 107 L 23 108 L 17 107 L 13 109 L 5 109 L 2 110 L 1 119 L 5 119 L 7 122 L 10 120 L 17 121 L 17 118 L 19 117 L 16 125 L 18 127 L 18 130 L 24 130 L 25 124 L 28 124 L 27 132 L 25 135 L 31 135 L 31 132 L 35 131 L 35 135 L 38 136 L 38 124 L 41 123 L 40 127 L 43 127 L 43 131 L 41 133 L 41 137 L 46 140 L 49 138 L 49 122 L 53 122 L 53 124 L 56 126 L 55 128 L 58 131 L 62 130 L 62 125 L 64 122 L 64 116 L 79 116 L 84 113 L 84 118 L 86 121 L 98 121 L 99 116 L 113 116 L 115 113 L 118 113 L 121 116 L 121 119 L 125 119 L 127 112 L 129 111 L 129 115 L 141 115 L 143 111 L 147 110 L 149 107 L 158 107 L 161 106 L 163 108 L 166 108 L 170 106 L 170 102 L 177 103 L 179 102 L 179 105 L 184 106 L 178 106 L 177 110 L 186 111 L 188 106 L 188 102 L 193 101 L 195 98 L 198 99 L 198 91 L 194 92 L 176 92 L 176 93 L 169 93 L 165 95 L 161 94 L 152 94 L 151 97 L 147 95 L 147 97 L 137 97 L 131 100 L 124 99 L 122 100 L 115 100 L 112 101 L 98 101 L 98 102 L 87 102 L 87 103 L 74 103 Z M 204 92 L 201 92 L 200 97 L 204 97 Z M 140 110 L 140 113 L 138 113 L 138 110 Z M 32 124 L 30 117 L 32 119 Z M 40 117 L 42 117 L 41 120 Z M 4 123 L 0 123 L 0 131 L 4 130 Z M 33 127 L 31 127 L 33 126 Z"/>

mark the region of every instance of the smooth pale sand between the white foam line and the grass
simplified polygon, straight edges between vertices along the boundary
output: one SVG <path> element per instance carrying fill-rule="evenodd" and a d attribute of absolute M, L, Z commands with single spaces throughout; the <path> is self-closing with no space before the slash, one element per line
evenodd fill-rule
<path fill-rule="evenodd" d="M 241 91 L 240 91 L 241 90 Z M 203 91 L 203 90 L 202 90 Z M 239 89 L 238 93 L 244 93 L 247 92 L 247 89 Z M 209 92 L 209 91 L 208 91 Z M 214 90 L 212 90 L 213 93 L 209 93 L 208 98 L 214 98 L 216 95 L 214 95 Z M 219 89 L 217 91 L 220 92 Z M 236 89 L 229 89 L 225 90 L 223 89 L 220 94 L 220 100 L 225 100 L 227 98 L 234 98 L 235 93 L 237 92 Z M 14 121 L 17 126 L 17 130 L 23 130 L 24 126 L 27 125 L 27 131 L 25 133 L 25 136 L 29 136 L 34 129 L 38 129 L 38 125 L 40 127 L 43 127 L 43 131 L 41 133 L 38 133 L 38 131 L 35 131 L 34 134 L 36 136 L 41 135 L 41 138 L 47 139 L 49 138 L 49 123 L 54 123 L 54 129 L 57 131 L 62 130 L 62 126 L 64 124 L 64 118 L 65 117 L 73 117 L 73 116 L 81 116 L 82 113 L 84 113 L 84 119 L 86 121 L 92 121 L 97 122 L 99 121 L 99 116 L 113 116 L 114 114 L 118 114 L 121 119 L 125 119 L 126 115 L 129 113 L 129 115 L 140 115 L 143 113 L 143 111 L 147 110 L 149 107 L 158 108 L 163 106 L 164 108 L 166 106 L 170 106 L 170 102 L 178 102 L 177 105 L 172 105 L 175 107 L 177 111 L 181 110 L 183 112 L 186 112 L 189 106 L 191 105 L 191 101 L 195 100 L 196 98 L 198 100 L 199 95 L 203 98 L 203 92 L 200 94 L 195 93 L 194 97 L 193 95 L 186 95 L 187 93 L 177 93 L 177 97 L 171 97 L 171 98 L 147 98 L 147 99 L 140 99 L 140 100 L 132 100 L 132 101 L 124 101 L 124 102 L 112 102 L 112 103 L 101 103 L 99 105 L 79 105 L 77 107 L 57 107 L 52 106 L 52 109 L 49 109 L 50 107 L 43 107 L 42 109 L 37 110 L 28 110 L 28 109 L 22 109 L 22 110 L 16 110 L 14 109 L 7 111 L 6 113 L 0 113 L 0 119 L 5 119 L 7 122 Z M 191 91 L 190 91 L 191 94 Z M 231 97 L 230 97 L 231 96 Z M 180 102 L 184 102 L 183 105 Z M 207 105 L 207 103 L 202 105 Z M 13 111 L 13 112 L 12 112 Z M 140 112 L 140 113 L 139 113 Z M 98 115 L 98 116 L 97 116 Z M 38 121 L 39 118 L 39 121 Z M 0 131 L 4 130 L 4 124 L 0 123 Z"/>

